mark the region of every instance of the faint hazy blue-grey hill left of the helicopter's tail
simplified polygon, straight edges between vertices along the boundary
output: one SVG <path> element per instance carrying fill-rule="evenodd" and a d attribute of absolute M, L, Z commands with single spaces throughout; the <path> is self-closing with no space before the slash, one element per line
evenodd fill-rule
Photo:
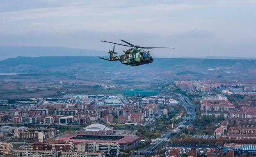
<path fill-rule="evenodd" d="M 27 56 L 106 56 L 104 51 L 47 46 L 0 46 L 0 60 Z"/>

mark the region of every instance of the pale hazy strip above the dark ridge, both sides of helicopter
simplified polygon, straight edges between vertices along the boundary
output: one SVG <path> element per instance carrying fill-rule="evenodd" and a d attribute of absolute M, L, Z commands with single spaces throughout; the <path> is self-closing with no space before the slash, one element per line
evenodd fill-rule
<path fill-rule="evenodd" d="M 97 51 L 89 49 L 74 49 L 60 46 L 0 46 L 0 61 L 16 57 L 75 57 L 75 56 L 91 56 L 91 57 L 109 57 L 107 51 Z M 123 52 L 117 52 L 121 55 Z M 191 59 L 242 59 L 255 60 L 256 57 L 232 57 L 232 56 L 160 56 L 155 58 L 191 58 Z"/>

